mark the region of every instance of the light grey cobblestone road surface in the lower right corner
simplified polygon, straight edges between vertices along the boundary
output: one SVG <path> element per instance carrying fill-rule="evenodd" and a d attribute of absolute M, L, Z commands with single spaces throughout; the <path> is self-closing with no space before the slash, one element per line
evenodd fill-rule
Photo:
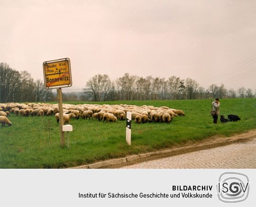
<path fill-rule="evenodd" d="M 121 168 L 256 168 L 256 138 Z"/>

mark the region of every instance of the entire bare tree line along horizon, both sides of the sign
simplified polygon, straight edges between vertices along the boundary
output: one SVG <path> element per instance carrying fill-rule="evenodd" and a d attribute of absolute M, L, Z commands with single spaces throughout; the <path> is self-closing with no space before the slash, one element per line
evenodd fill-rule
<path fill-rule="evenodd" d="M 82 95 L 81 95 L 82 94 Z M 64 101 L 110 101 L 110 100 L 171 100 L 205 98 L 253 98 L 256 94 L 250 88 L 240 87 L 237 91 L 227 89 L 223 84 L 210 85 L 207 89 L 196 80 L 138 77 L 125 73 L 112 81 L 108 75 L 90 78 L 81 93 L 64 93 Z M 0 103 L 56 101 L 52 90 L 46 90 L 42 80 L 34 80 L 27 71 L 11 69 L 0 63 Z"/>

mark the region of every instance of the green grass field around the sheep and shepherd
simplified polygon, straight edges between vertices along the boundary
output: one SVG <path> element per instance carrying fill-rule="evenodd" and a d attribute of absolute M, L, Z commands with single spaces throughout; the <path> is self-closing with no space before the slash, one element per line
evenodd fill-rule
<path fill-rule="evenodd" d="M 222 99 L 220 114 L 237 114 L 241 121 L 212 123 L 210 100 L 126 101 L 97 104 L 136 104 L 181 109 L 185 117 L 169 124 L 132 124 L 132 145 L 125 140 L 126 122 L 71 120 L 70 147 L 60 147 L 59 125 L 55 117 L 9 117 L 11 127 L 0 129 L 0 168 L 64 168 L 96 161 L 155 151 L 188 140 L 213 135 L 231 136 L 256 129 L 256 99 Z M 72 102 L 69 104 L 82 104 Z"/>

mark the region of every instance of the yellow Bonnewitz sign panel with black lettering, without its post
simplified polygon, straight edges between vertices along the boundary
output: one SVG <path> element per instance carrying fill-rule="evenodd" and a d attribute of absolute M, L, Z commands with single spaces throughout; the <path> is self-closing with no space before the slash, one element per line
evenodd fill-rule
<path fill-rule="evenodd" d="M 72 86 L 70 60 L 68 58 L 43 63 L 47 89 Z"/>

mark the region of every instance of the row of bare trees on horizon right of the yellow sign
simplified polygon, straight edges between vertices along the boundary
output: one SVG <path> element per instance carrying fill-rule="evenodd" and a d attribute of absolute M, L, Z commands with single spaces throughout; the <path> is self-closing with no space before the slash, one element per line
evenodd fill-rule
<path fill-rule="evenodd" d="M 83 101 L 107 100 L 171 100 L 204 98 L 253 98 L 252 89 L 240 87 L 237 91 L 227 89 L 223 84 L 210 85 L 207 89 L 199 86 L 196 80 L 170 78 L 146 78 L 125 73 L 112 81 L 108 75 L 95 75 L 83 88 Z"/>

